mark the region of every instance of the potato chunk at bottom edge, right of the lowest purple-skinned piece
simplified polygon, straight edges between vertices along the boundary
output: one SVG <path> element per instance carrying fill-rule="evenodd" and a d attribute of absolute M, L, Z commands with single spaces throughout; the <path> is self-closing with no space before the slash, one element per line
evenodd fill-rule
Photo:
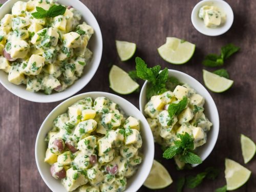
<path fill-rule="evenodd" d="M 61 182 L 68 191 L 73 191 L 79 186 L 87 184 L 88 179 L 86 178 L 86 176 L 81 174 L 78 170 L 69 168 L 67 170 L 66 178 L 62 179 Z"/>

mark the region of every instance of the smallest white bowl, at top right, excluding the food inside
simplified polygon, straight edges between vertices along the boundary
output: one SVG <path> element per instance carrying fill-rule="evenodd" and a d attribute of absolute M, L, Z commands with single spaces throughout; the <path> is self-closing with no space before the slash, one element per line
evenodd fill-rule
<path fill-rule="evenodd" d="M 201 7 L 209 5 L 209 6 L 216 6 L 221 9 L 226 15 L 227 19 L 226 22 L 217 28 L 208 28 L 204 25 L 204 22 L 201 18 L 199 18 L 198 13 Z M 234 14 L 232 8 L 228 5 L 227 2 L 222 0 L 203 0 L 199 2 L 193 9 L 191 13 L 191 22 L 193 26 L 202 34 L 208 36 L 218 36 L 223 33 L 226 33 L 233 24 Z"/>

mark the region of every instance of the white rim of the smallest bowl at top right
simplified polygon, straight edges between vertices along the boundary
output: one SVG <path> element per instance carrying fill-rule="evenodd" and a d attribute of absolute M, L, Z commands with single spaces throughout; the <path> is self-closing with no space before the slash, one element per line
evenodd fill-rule
<path fill-rule="evenodd" d="M 209 30 L 202 29 L 198 26 L 198 22 L 195 19 L 195 16 L 198 17 L 197 9 L 198 9 L 198 7 L 201 7 L 203 4 L 205 4 L 207 2 L 218 2 L 218 3 L 221 3 L 221 4 L 225 5 L 229 9 L 230 14 L 227 15 L 227 16 L 230 16 L 230 21 L 228 23 L 224 24 L 224 26 L 226 25 L 225 30 L 221 30 L 221 29 L 223 29 L 224 26 L 222 26 L 220 28 L 209 28 Z M 233 10 L 232 10 L 231 6 L 223 0 L 203 0 L 203 1 L 200 1 L 195 5 L 195 7 L 193 8 L 193 10 L 191 12 L 191 22 L 192 22 L 194 28 L 197 31 L 199 31 L 200 33 L 202 33 L 204 35 L 207 35 L 207 36 L 219 36 L 219 35 L 222 35 L 222 34 L 226 33 L 231 28 L 231 26 L 233 24 L 233 20 L 234 20 Z"/>

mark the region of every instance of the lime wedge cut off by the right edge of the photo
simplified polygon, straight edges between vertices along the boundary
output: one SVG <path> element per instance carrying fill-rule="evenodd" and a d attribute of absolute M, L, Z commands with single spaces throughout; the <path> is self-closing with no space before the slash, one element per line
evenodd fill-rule
<path fill-rule="evenodd" d="M 249 137 L 241 134 L 241 147 L 244 163 L 248 163 L 255 155 L 256 145 Z"/>

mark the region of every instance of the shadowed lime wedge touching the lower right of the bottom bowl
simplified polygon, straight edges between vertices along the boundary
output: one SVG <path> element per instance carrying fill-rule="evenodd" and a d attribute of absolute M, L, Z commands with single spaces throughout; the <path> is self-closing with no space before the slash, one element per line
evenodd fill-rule
<path fill-rule="evenodd" d="M 164 168 L 161 163 L 154 160 L 150 175 L 147 176 L 147 179 L 143 185 L 150 189 L 160 189 L 167 187 L 172 183 L 173 180 L 166 168 Z"/>

